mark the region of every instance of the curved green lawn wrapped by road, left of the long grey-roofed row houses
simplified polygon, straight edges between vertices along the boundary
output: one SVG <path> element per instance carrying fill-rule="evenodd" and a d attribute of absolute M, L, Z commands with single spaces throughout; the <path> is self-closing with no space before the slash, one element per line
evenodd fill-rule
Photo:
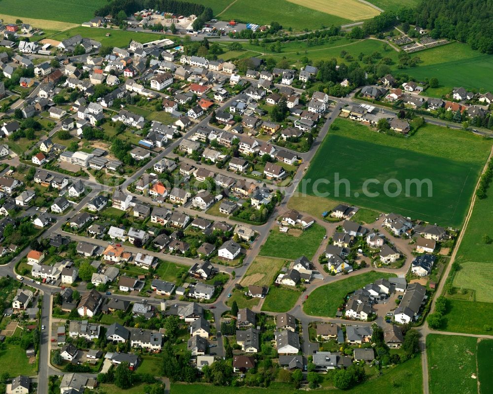
<path fill-rule="evenodd" d="M 303 311 L 312 316 L 335 317 L 337 308 L 344 302 L 346 294 L 377 279 L 395 276 L 395 274 L 370 271 L 318 287 L 305 301 Z"/>

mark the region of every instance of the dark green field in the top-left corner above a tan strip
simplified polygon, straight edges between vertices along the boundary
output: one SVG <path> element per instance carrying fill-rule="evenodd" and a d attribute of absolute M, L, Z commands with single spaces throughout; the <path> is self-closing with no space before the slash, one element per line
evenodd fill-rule
<path fill-rule="evenodd" d="M 94 11 L 104 0 L 1 0 L 1 10 L 20 19 L 36 18 L 70 23 L 87 22 L 94 18 Z"/>

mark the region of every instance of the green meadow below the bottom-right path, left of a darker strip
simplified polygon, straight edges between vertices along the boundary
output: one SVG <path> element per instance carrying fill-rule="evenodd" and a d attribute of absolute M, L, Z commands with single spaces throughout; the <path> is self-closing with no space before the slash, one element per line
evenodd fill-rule
<path fill-rule="evenodd" d="M 430 334 L 426 337 L 430 394 L 476 394 L 476 338 Z"/>

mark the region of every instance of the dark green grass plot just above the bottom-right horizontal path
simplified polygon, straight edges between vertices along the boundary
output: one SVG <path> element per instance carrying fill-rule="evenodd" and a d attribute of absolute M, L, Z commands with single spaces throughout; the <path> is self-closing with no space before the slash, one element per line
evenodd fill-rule
<path fill-rule="evenodd" d="M 485 325 L 493 327 L 493 303 L 448 299 L 442 330 L 491 335 Z"/>

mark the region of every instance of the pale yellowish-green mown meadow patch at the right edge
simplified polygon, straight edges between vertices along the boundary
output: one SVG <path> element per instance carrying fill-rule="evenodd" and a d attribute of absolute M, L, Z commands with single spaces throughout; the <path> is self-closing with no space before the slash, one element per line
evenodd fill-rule
<path fill-rule="evenodd" d="M 493 299 L 493 264 L 467 261 L 460 264 L 454 276 L 454 287 L 473 289 L 476 301 L 491 302 Z"/>

